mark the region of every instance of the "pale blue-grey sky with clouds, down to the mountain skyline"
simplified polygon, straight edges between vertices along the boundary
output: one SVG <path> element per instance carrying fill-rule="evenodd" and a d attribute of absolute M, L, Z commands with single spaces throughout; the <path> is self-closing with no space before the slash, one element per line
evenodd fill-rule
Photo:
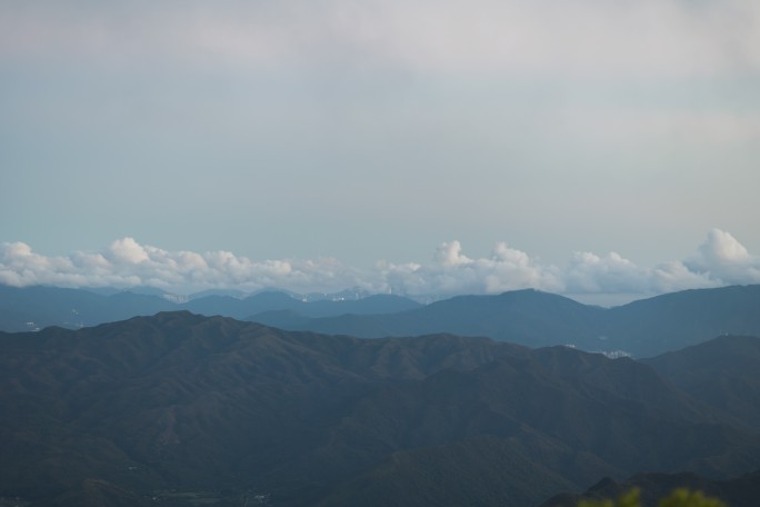
<path fill-rule="evenodd" d="M 754 0 L 0 0 L 0 282 L 760 282 Z"/>

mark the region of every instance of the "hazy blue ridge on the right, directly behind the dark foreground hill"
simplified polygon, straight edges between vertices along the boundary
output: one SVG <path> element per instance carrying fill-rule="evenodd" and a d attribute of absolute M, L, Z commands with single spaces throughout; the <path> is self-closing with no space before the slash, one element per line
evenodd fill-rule
<path fill-rule="evenodd" d="M 518 290 L 460 296 L 393 315 L 306 319 L 280 312 L 251 319 L 284 329 L 364 338 L 452 332 L 529 347 L 573 345 L 648 357 L 723 334 L 760 336 L 760 286 L 686 290 L 611 309 Z"/>

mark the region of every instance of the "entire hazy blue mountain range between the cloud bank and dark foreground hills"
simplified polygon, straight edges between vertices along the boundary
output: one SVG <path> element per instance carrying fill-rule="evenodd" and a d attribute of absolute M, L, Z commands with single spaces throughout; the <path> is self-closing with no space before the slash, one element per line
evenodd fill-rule
<path fill-rule="evenodd" d="M 212 294 L 174 302 L 156 294 L 0 287 L 0 329 L 7 331 L 53 325 L 79 328 L 171 310 L 360 338 L 448 332 L 639 358 L 720 335 L 760 336 L 760 285 L 686 290 L 609 309 L 537 290 L 459 296 L 423 306 L 390 295 L 303 301 L 266 291 L 247 298 Z"/>

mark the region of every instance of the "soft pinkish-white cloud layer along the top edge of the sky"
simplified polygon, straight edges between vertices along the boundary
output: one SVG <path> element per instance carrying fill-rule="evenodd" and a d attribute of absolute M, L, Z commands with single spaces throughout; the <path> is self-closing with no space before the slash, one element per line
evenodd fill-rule
<path fill-rule="evenodd" d="M 753 0 L 29 1 L 0 8 L 10 54 L 433 71 L 693 76 L 760 64 Z"/>

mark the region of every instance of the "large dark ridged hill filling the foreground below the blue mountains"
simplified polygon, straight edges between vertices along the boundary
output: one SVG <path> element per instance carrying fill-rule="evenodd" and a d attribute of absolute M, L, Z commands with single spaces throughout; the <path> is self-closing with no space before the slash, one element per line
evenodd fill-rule
<path fill-rule="evenodd" d="M 0 497 L 28 505 L 529 507 L 600 477 L 760 467 L 650 366 L 188 312 L 0 334 Z"/>

